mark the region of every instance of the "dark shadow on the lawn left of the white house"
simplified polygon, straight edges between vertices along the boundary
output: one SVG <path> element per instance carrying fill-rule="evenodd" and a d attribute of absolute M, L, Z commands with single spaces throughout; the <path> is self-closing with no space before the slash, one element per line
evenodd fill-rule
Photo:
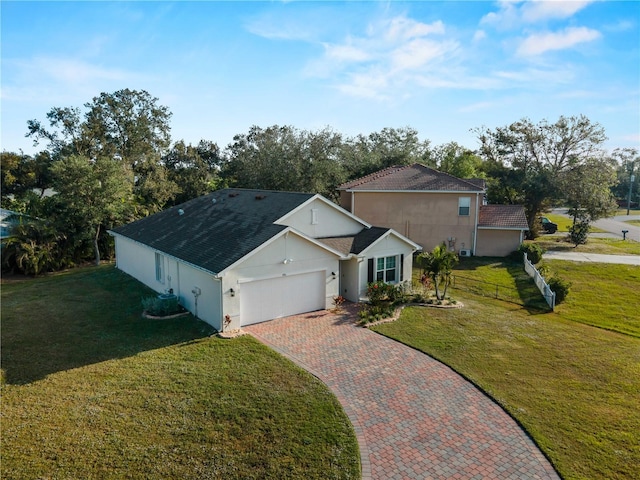
<path fill-rule="evenodd" d="M 142 318 L 141 299 L 149 295 L 157 294 L 112 265 L 3 284 L 5 381 L 30 383 L 214 333 L 192 316 Z"/>

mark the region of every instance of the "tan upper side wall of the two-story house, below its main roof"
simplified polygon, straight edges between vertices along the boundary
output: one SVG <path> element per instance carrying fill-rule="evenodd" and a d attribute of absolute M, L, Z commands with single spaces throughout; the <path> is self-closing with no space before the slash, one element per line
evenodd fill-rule
<path fill-rule="evenodd" d="M 458 215 L 459 197 L 471 199 L 468 216 Z M 477 202 L 475 192 L 355 192 L 352 208 L 366 222 L 393 228 L 425 251 L 450 237 L 458 251 L 474 247 Z"/>

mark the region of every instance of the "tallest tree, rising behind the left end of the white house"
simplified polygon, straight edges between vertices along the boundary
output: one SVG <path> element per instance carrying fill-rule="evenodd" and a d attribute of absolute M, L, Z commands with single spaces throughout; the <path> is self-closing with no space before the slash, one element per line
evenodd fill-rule
<path fill-rule="evenodd" d="M 101 93 L 79 108 L 54 107 L 49 126 L 27 122 L 27 136 L 35 144 L 48 142 L 55 160 L 69 155 L 118 159 L 129 167 L 141 214 L 153 213 L 178 192 L 169 180 L 162 155 L 170 145 L 171 112 L 142 90 Z"/>

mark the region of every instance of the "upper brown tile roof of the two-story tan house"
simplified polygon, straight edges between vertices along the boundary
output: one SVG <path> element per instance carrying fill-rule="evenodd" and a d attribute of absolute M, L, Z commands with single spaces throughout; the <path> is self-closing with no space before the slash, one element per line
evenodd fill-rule
<path fill-rule="evenodd" d="M 463 180 L 419 163 L 385 168 L 343 183 L 339 190 L 483 192 L 477 179 Z"/>

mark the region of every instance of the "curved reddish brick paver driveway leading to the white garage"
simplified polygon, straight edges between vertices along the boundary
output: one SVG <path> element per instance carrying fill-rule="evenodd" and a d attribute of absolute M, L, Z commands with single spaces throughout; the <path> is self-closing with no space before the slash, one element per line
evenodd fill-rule
<path fill-rule="evenodd" d="M 245 329 L 320 378 L 355 428 L 363 479 L 557 479 L 498 405 L 450 368 L 343 315 Z"/>

